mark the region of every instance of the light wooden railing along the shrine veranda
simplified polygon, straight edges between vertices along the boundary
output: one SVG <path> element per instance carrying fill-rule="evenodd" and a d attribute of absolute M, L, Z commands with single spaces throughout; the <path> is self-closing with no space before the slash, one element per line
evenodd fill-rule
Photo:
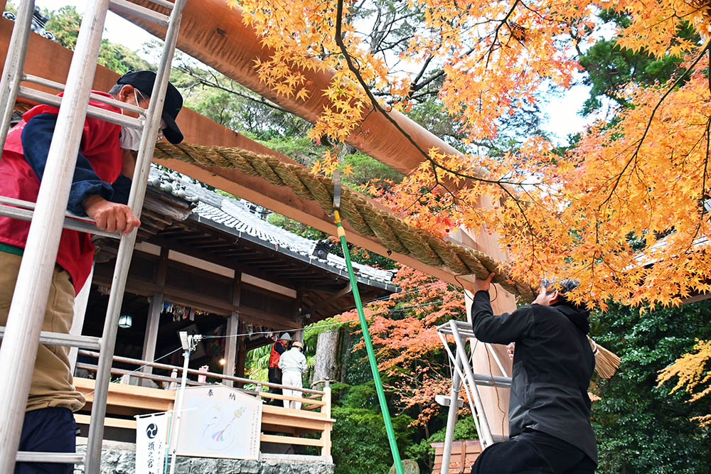
<path fill-rule="evenodd" d="M 81 355 L 98 357 L 98 352 L 80 350 Z M 175 365 L 160 364 L 158 362 L 147 362 L 144 360 L 132 359 L 129 357 L 114 356 L 114 362 L 122 364 L 136 365 L 137 367 L 154 367 L 158 370 L 166 370 L 171 376 L 154 375 L 140 370 L 126 370 L 112 367 L 113 375 L 137 377 L 138 379 L 149 379 L 159 384 L 169 384 L 169 389 L 156 389 L 140 387 L 127 383 L 109 384 L 109 396 L 107 399 L 107 418 L 105 426 L 112 426 L 121 429 L 136 429 L 136 421 L 133 416 L 137 414 L 152 413 L 155 411 L 167 411 L 173 409 L 176 392 L 174 387 L 180 384 L 181 379 L 176 375 L 180 374 L 183 367 Z M 96 372 L 97 366 L 78 362 L 77 369 L 84 369 L 89 372 Z M 331 429 L 335 420 L 331 419 L 331 387 L 326 386 L 323 390 L 307 388 L 284 387 L 280 384 L 271 384 L 260 380 L 245 379 L 242 377 L 230 377 L 229 375 L 215 372 L 200 372 L 188 369 L 188 385 L 209 385 L 206 382 L 191 380 L 191 375 L 204 375 L 211 379 L 218 379 L 222 383 L 232 382 L 237 384 L 236 389 L 260 398 L 267 402 L 274 400 L 294 400 L 301 402 L 301 409 L 284 408 L 264 404 L 262 406 L 262 434 L 261 441 L 267 443 L 279 443 L 300 446 L 316 446 L 321 448 L 321 456 L 331 456 Z M 90 416 L 83 412 L 91 410 L 94 392 L 94 380 L 75 377 L 75 387 L 77 391 L 84 394 L 87 404 L 79 414 L 75 414 L 78 424 L 89 424 Z M 226 383 L 229 385 L 229 383 Z M 255 389 L 241 388 L 244 385 L 254 385 Z M 262 392 L 262 387 L 274 387 L 279 389 L 290 389 L 302 392 L 303 398 L 287 397 L 283 394 L 273 394 Z M 277 433 L 277 434 L 265 434 Z M 319 438 L 306 438 L 309 433 L 321 433 Z"/>

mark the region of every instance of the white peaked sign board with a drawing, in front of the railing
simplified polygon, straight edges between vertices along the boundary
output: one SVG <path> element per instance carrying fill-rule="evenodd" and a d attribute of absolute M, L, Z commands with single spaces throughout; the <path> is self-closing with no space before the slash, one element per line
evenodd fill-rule
<path fill-rule="evenodd" d="M 178 456 L 258 459 L 261 431 L 261 399 L 224 385 L 185 389 Z"/>

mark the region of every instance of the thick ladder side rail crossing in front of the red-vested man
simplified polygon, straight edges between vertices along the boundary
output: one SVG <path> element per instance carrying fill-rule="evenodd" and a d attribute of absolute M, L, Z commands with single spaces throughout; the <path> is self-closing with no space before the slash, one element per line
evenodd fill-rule
<path fill-rule="evenodd" d="M 0 406 L 7 414 L 0 424 L 2 473 L 14 470 L 107 7 L 108 0 L 87 4 L 0 348 Z"/>

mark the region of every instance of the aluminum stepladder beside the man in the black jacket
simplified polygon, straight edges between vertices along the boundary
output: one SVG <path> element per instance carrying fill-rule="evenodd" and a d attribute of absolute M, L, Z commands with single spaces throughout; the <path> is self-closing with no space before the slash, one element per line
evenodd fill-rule
<path fill-rule="evenodd" d="M 447 414 L 447 430 L 444 436 L 444 450 L 442 453 L 442 469 L 440 470 L 440 474 L 449 474 L 449 460 L 451 457 L 451 445 L 454 441 L 456 411 L 461 404 L 461 399 L 459 398 L 461 387 L 464 387 L 466 398 L 469 399 L 469 408 L 471 409 L 472 416 L 474 416 L 474 424 L 476 425 L 476 432 L 479 433 L 481 446 L 482 448 L 487 448 L 495 442 L 504 441 L 504 439 L 502 436 L 494 436 L 491 433 L 491 428 L 489 427 L 486 413 L 481 403 L 481 397 L 479 396 L 478 387 L 510 388 L 511 378 L 474 373 L 470 358 L 466 355 L 465 348 L 466 341 L 470 340 L 471 353 L 473 354 L 476 345 L 479 344 L 479 340 L 476 340 L 474 331 L 471 329 L 471 323 L 453 319 L 439 325 L 437 327 L 437 334 L 439 335 L 439 339 L 442 340 L 442 345 L 444 345 L 444 350 L 447 352 L 449 362 L 454 367 L 451 376 L 451 391 L 449 392 L 449 397 L 443 397 L 442 399 L 442 404 L 449 406 L 449 413 Z M 454 338 L 454 354 L 447 342 L 448 335 Z M 504 370 L 503 364 L 501 364 L 501 360 L 498 358 L 498 355 L 496 355 L 496 352 L 491 348 L 491 344 L 483 344 L 493 357 L 501 373 L 506 375 L 506 370 Z M 442 396 L 438 395 L 438 397 Z"/>

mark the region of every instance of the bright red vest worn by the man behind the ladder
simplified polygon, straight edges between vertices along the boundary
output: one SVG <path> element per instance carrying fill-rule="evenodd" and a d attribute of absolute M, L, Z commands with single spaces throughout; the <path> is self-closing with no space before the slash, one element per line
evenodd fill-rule
<path fill-rule="evenodd" d="M 95 94 L 111 97 L 105 92 Z M 112 105 L 90 100 L 90 105 L 112 112 L 121 112 Z M 38 114 L 58 114 L 59 109 L 38 105 L 23 114 L 23 120 L 7 135 L 0 159 L 0 195 L 36 202 L 40 180 L 26 161 L 21 134 L 25 124 Z M 102 181 L 114 183 L 122 168 L 122 151 L 119 146 L 121 126 L 87 117 L 84 122 L 80 152 L 87 158 Z M 0 242 L 25 247 L 30 222 L 0 216 Z M 79 293 L 90 274 L 94 259 L 94 244 L 90 235 L 75 230 L 63 230 L 56 262 L 72 277 L 74 289 Z"/>

